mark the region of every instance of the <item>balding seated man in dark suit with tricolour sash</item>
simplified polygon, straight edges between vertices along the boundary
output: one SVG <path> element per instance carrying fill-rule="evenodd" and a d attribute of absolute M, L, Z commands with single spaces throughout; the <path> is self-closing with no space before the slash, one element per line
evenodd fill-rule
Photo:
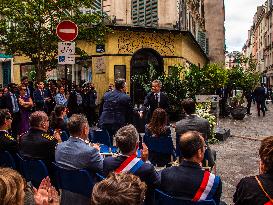
<path fill-rule="evenodd" d="M 184 160 L 179 166 L 166 168 L 161 173 L 161 190 L 175 197 L 192 201 L 213 199 L 220 203 L 222 182 L 219 176 L 205 171 L 200 166 L 206 143 L 201 133 L 189 131 L 179 140 Z"/>

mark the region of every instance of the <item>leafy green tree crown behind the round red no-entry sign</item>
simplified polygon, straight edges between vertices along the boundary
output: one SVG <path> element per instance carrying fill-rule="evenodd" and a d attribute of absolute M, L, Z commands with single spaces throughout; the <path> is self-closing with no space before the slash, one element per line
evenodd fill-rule
<path fill-rule="evenodd" d="M 101 12 L 82 14 L 93 0 L 2 0 L 0 4 L 0 45 L 8 54 L 26 55 L 36 66 L 38 78 L 57 66 L 56 26 L 72 20 L 79 27 L 78 40 L 102 43 L 108 28 Z M 84 55 L 79 48 L 76 54 Z"/>

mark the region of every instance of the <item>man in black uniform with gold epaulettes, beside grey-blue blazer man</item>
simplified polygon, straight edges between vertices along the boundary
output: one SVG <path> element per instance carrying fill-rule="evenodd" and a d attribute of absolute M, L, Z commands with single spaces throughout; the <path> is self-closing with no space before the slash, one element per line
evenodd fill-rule
<path fill-rule="evenodd" d="M 51 136 L 47 133 L 48 116 L 43 111 L 36 111 L 29 119 L 30 130 L 20 136 L 19 153 L 23 157 L 54 161 L 55 147 L 61 142 L 60 134 Z"/>

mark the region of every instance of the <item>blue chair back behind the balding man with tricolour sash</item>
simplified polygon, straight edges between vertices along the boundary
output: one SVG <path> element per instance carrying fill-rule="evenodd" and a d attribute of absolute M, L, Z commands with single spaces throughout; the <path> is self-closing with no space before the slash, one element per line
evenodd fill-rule
<path fill-rule="evenodd" d="M 156 189 L 154 193 L 155 205 L 216 205 L 214 200 L 193 202 L 189 199 L 177 198 Z"/>

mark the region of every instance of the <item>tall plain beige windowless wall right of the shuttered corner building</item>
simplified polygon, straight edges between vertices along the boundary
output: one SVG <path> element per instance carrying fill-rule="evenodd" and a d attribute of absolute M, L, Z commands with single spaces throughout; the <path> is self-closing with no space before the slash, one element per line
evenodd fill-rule
<path fill-rule="evenodd" d="M 204 9 L 210 61 L 223 63 L 226 50 L 224 0 L 205 0 Z"/>

